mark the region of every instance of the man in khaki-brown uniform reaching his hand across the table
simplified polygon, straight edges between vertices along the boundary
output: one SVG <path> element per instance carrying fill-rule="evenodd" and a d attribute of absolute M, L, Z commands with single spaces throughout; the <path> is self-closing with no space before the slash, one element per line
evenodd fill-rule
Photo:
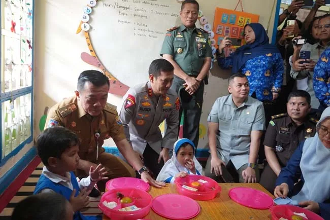
<path fill-rule="evenodd" d="M 107 103 L 109 80 L 100 71 L 86 70 L 78 78 L 75 96 L 54 105 L 47 116 L 46 127 L 63 126 L 75 132 L 81 143 L 78 171 L 88 175 L 91 166 L 101 163 L 108 170 L 108 177 L 135 177 L 135 171 L 119 158 L 105 153 L 104 139 L 110 137 L 126 160 L 141 173 L 141 178 L 154 186 L 162 186 L 143 169 L 143 164 L 126 140 L 116 107 Z M 83 172 L 82 172 L 83 171 Z M 145 172 L 146 171 L 146 172 Z M 105 184 L 98 184 L 104 191 Z"/>

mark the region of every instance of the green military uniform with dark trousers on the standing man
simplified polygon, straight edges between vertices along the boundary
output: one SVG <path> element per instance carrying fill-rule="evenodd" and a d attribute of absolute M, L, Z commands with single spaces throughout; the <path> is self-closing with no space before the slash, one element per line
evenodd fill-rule
<path fill-rule="evenodd" d="M 174 61 L 189 76 L 197 77 L 202 69 L 205 58 L 212 57 L 209 34 L 203 29 L 187 28 L 184 25 L 168 30 L 164 39 L 160 55 L 169 54 Z M 174 76 L 172 89 L 177 93 L 184 84 L 184 79 Z M 184 112 L 183 137 L 193 140 L 195 146 L 199 141 L 199 126 L 202 113 L 204 82 L 193 94 L 196 101 L 192 109 L 181 106 L 180 119 Z M 180 95 L 180 94 L 179 94 Z"/>

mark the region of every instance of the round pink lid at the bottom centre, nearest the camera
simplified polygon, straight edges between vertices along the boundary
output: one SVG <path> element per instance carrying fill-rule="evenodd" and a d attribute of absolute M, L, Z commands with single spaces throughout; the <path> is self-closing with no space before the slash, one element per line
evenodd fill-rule
<path fill-rule="evenodd" d="M 178 194 L 157 196 L 152 200 L 151 208 L 162 217 L 179 220 L 193 218 L 201 211 L 196 201 Z"/>

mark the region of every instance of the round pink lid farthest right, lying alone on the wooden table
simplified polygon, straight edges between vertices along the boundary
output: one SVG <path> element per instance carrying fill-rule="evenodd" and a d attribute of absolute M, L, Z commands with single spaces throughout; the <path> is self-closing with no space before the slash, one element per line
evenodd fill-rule
<path fill-rule="evenodd" d="M 272 197 L 266 193 L 247 187 L 229 190 L 229 197 L 241 205 L 255 209 L 268 209 L 274 204 Z"/>

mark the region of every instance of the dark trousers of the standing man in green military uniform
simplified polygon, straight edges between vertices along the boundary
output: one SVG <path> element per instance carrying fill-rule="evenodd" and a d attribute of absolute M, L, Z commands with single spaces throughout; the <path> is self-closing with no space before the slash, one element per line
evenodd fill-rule
<path fill-rule="evenodd" d="M 178 93 L 179 88 L 184 83 L 184 80 L 174 76 L 171 88 Z M 196 148 L 198 146 L 198 141 L 200 138 L 200 120 L 202 115 L 203 95 L 204 82 L 202 81 L 200 87 L 193 94 L 194 99 L 196 100 L 194 108 L 185 109 L 182 107 L 182 105 L 180 106 L 179 122 L 181 122 L 181 117 L 183 113 L 183 138 L 188 138 L 189 140 L 191 140 L 195 144 Z M 180 126 L 178 129 L 180 129 Z"/>

